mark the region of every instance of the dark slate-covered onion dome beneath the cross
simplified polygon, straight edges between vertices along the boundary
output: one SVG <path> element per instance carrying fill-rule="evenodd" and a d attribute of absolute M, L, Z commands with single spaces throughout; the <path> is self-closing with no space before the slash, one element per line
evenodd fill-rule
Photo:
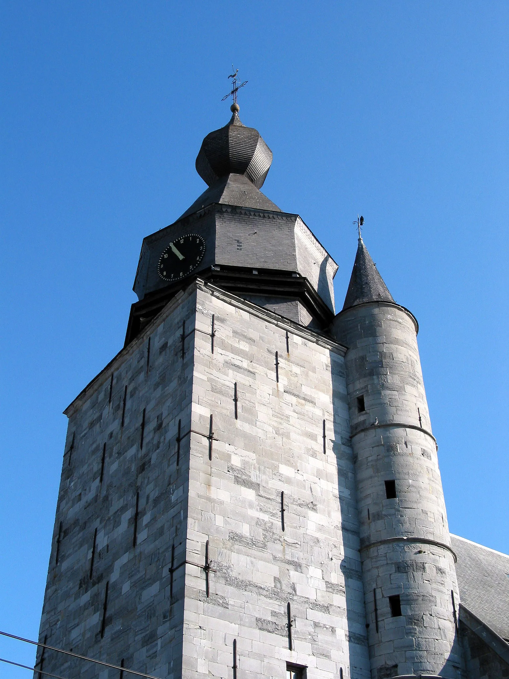
<path fill-rule="evenodd" d="M 272 151 L 258 130 L 240 122 L 238 105 L 227 125 L 207 134 L 196 158 L 196 171 L 209 185 L 227 175 L 244 175 L 257 187 L 263 186 L 272 162 Z"/>

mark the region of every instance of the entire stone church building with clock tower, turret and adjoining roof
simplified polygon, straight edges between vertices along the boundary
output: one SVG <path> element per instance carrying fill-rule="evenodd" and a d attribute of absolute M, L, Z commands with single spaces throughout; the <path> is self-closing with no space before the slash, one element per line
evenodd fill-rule
<path fill-rule="evenodd" d="M 509 676 L 509 557 L 449 534 L 417 320 L 361 237 L 336 313 L 231 112 L 65 410 L 35 677 Z"/>

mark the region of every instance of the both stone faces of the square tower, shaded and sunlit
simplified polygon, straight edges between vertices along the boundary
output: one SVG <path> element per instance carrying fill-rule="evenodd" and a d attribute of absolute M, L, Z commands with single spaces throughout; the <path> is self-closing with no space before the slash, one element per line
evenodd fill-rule
<path fill-rule="evenodd" d="M 66 411 L 39 640 L 165 679 L 368 679 L 344 354 L 178 293 Z"/>

